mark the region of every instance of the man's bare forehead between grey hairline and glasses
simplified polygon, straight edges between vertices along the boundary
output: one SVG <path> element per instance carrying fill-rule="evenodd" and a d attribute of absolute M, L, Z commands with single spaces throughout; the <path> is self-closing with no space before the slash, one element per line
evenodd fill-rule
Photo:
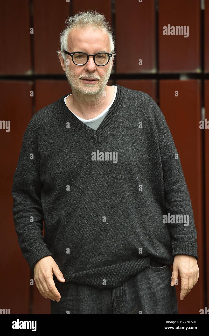
<path fill-rule="evenodd" d="M 104 33 L 103 29 L 91 27 L 73 29 L 68 35 L 67 42 L 70 52 L 81 51 L 81 48 L 89 53 L 97 52 L 96 49 L 107 51 L 110 49 L 108 34 Z"/>

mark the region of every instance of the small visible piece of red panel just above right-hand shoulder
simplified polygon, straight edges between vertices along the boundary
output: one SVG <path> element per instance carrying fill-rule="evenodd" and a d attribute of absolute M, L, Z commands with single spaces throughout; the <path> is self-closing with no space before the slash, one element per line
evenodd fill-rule
<path fill-rule="evenodd" d="M 128 89 L 146 92 L 157 101 L 157 81 L 155 79 L 118 79 L 116 84 Z"/>

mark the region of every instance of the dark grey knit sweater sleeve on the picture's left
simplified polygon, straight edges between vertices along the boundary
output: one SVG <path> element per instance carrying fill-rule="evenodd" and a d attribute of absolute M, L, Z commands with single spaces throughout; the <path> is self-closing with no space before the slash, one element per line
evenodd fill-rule
<path fill-rule="evenodd" d="M 33 271 L 35 264 L 46 256 L 52 256 L 43 231 L 41 205 L 42 183 L 38 169 L 36 133 L 30 122 L 24 135 L 16 170 L 13 174 L 13 220 L 23 257 Z"/>

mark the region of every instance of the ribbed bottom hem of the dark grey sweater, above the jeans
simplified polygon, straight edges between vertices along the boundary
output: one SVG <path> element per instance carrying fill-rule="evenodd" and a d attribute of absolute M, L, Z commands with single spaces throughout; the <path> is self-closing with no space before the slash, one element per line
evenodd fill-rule
<path fill-rule="evenodd" d="M 72 275 L 65 275 L 65 283 L 75 282 L 89 285 L 98 289 L 107 289 L 121 286 L 150 264 L 150 256 L 136 260 L 126 261 L 106 267 L 89 269 Z M 55 285 L 60 282 L 53 276 Z"/>

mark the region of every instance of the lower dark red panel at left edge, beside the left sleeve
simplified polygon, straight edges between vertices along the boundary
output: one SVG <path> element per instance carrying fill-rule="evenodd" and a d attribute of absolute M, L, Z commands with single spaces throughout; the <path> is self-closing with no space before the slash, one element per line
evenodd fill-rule
<path fill-rule="evenodd" d="M 30 82 L 0 82 L 1 120 L 10 121 L 9 132 L 0 129 L 1 308 L 11 309 L 11 314 L 29 313 L 30 269 L 15 232 L 11 187 L 22 137 L 32 117 L 30 90 Z"/>

